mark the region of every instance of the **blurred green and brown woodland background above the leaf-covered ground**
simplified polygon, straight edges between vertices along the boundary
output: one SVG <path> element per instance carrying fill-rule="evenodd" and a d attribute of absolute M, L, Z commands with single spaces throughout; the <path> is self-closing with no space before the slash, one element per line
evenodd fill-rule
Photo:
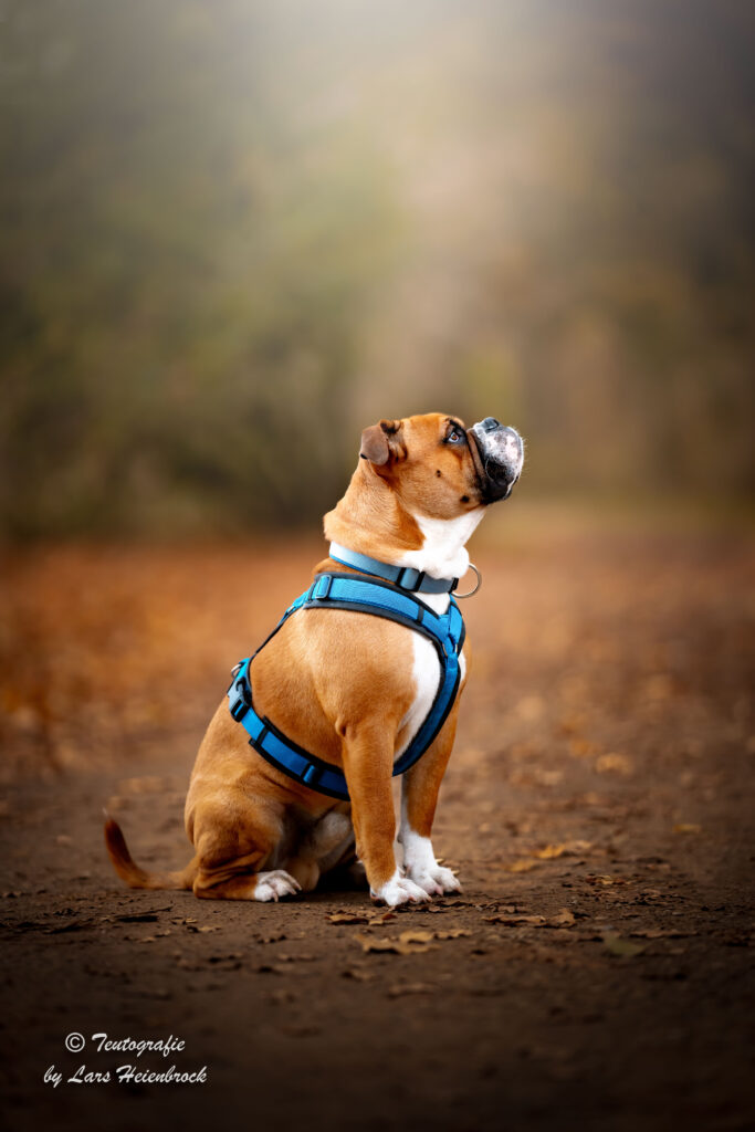
<path fill-rule="evenodd" d="M 755 480 L 752 9 L 6 0 L 0 518 L 311 521 L 380 415 Z"/>

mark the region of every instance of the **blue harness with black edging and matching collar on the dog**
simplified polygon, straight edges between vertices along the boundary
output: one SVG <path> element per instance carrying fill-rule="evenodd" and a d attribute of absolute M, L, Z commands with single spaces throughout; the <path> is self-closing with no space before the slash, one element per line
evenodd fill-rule
<path fill-rule="evenodd" d="M 344 552 L 342 547 L 334 546 L 332 549 L 334 554 L 331 557 L 336 557 L 337 549 L 340 554 L 336 560 L 345 561 L 346 565 L 352 565 L 352 561 L 359 557 L 361 564 L 358 568 L 360 569 L 368 568 L 367 564 L 369 564 L 372 567 L 380 566 L 384 569 L 405 574 L 405 571 L 401 571 L 400 567 L 377 563 L 376 559 L 367 558 L 367 556 L 355 556 L 354 551 Z M 351 560 L 346 560 L 346 554 Z M 375 575 L 378 571 L 372 568 L 370 573 Z M 402 589 L 402 582 L 406 583 L 406 589 Z M 436 697 L 427 719 L 406 751 L 394 763 L 393 773 L 394 775 L 403 774 L 404 771 L 414 765 L 438 735 L 456 698 L 461 675 L 458 657 L 464 645 L 464 619 L 456 601 L 449 597 L 448 609 L 439 616 L 411 592 L 414 589 L 421 589 L 423 582 L 426 582 L 424 576 L 420 575 L 418 571 L 410 571 L 410 576 L 402 577 L 401 581 L 396 578 L 389 582 L 376 576 L 367 577 L 363 574 L 343 574 L 328 571 L 325 574 L 318 574 L 310 588 L 289 606 L 257 652 L 235 666 L 233 680 L 228 692 L 231 715 L 249 734 L 250 746 L 263 758 L 297 782 L 308 786 L 311 790 L 329 795 L 332 798 L 349 798 L 346 777 L 343 771 L 292 743 L 266 715 L 257 714 L 254 706 L 249 669 L 257 653 L 275 636 L 289 617 L 299 609 L 351 609 L 354 612 L 372 614 L 376 617 L 385 617 L 391 621 L 405 625 L 415 633 L 428 637 L 436 648 L 441 674 Z M 426 584 L 432 582 L 437 584 L 436 580 L 431 578 L 428 578 Z M 441 592 L 448 593 L 452 589 L 452 584 L 448 582 L 444 582 L 443 586 Z M 438 590 L 431 592 L 438 592 Z"/>

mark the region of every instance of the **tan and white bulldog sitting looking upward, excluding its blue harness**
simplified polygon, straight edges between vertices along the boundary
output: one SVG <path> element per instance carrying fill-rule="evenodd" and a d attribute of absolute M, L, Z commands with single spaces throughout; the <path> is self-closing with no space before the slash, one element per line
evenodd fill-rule
<path fill-rule="evenodd" d="M 432 578 L 462 577 L 465 543 L 486 507 L 520 477 L 518 434 L 491 417 L 466 429 L 441 413 L 381 420 L 362 432 L 343 499 L 325 516 L 326 538 Z M 315 567 L 344 569 L 331 558 Z M 443 614 L 448 593 L 421 594 Z M 118 875 L 137 889 L 192 889 L 225 900 L 277 900 L 311 891 L 357 856 L 374 899 L 387 904 L 460 890 L 436 860 L 430 832 L 465 681 L 431 746 L 402 779 L 398 840 L 391 788 L 394 760 L 427 717 L 440 679 L 426 637 L 396 621 L 338 609 L 300 609 L 255 657 L 256 710 L 294 743 L 345 773 L 350 801 L 318 794 L 266 762 L 224 700 L 207 729 L 186 800 L 195 857 L 154 874 L 131 859 L 117 822 L 105 842 Z"/>

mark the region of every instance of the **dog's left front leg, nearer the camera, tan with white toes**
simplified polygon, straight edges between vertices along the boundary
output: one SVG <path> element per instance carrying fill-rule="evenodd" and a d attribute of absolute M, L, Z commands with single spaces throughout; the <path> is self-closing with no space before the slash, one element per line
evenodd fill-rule
<path fill-rule="evenodd" d="M 396 818 L 391 774 L 393 740 L 384 722 L 346 729 L 343 769 L 351 797 L 357 852 L 367 871 L 370 894 L 395 907 L 428 900 L 418 884 L 402 876 L 393 847 Z"/>

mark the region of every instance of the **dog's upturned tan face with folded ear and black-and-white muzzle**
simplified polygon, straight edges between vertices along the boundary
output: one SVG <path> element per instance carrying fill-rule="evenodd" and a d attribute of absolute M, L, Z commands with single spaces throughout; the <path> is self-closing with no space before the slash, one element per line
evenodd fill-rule
<path fill-rule="evenodd" d="M 515 429 L 495 417 L 467 429 L 443 413 L 381 420 L 364 429 L 359 454 L 410 512 L 432 518 L 506 499 L 524 463 Z"/>

